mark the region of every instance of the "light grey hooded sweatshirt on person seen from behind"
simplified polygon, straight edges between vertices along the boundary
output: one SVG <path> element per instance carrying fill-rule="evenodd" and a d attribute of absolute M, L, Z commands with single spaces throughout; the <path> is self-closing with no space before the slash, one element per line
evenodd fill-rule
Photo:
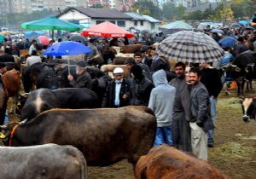
<path fill-rule="evenodd" d="M 176 89 L 168 84 L 164 70 L 154 72 L 152 78 L 155 88 L 151 91 L 148 107 L 154 111 L 158 127 L 171 126 Z"/>

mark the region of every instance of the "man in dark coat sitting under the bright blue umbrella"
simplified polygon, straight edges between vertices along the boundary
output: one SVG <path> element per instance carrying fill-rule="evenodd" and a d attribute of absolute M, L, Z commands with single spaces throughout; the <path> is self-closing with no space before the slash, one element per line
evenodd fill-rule
<path fill-rule="evenodd" d="M 87 88 L 91 90 L 92 81 L 90 74 L 86 72 L 84 61 L 79 61 L 76 66 L 77 78 L 74 78 L 71 74 L 68 74 L 67 78 L 69 85 L 73 88 Z"/>

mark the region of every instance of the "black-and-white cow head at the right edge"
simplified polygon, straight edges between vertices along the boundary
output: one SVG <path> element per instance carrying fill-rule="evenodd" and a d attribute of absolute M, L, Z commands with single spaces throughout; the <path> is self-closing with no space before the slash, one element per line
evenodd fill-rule
<path fill-rule="evenodd" d="M 242 109 L 242 119 L 245 123 L 249 123 L 252 118 L 255 119 L 256 115 L 256 98 L 243 98 L 240 99 Z"/>

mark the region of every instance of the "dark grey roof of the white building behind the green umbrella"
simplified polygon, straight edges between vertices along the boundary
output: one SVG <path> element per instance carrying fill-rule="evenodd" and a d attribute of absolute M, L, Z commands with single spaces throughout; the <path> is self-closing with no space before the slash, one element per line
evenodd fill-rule
<path fill-rule="evenodd" d="M 62 14 L 66 14 L 70 10 L 78 10 L 82 14 L 86 14 L 90 18 L 94 19 L 125 19 L 131 20 L 131 16 L 120 12 L 117 9 L 102 9 L 102 8 L 68 8 L 64 10 L 61 14 L 58 14 L 57 17 L 60 17 Z"/>

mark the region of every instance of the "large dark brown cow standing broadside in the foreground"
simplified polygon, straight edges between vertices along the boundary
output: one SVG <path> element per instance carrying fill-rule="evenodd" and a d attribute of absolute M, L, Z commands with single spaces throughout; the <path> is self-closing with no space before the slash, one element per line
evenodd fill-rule
<path fill-rule="evenodd" d="M 152 147 L 156 119 L 148 107 L 51 109 L 11 130 L 4 141 L 11 146 L 73 145 L 88 165 L 128 159 L 135 166 Z"/>

